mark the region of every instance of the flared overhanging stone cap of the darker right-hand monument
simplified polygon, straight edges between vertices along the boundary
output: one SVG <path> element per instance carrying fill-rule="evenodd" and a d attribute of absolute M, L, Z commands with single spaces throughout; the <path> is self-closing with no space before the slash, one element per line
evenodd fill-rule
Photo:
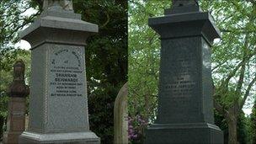
<path fill-rule="evenodd" d="M 164 36 L 159 33 L 157 27 L 161 25 L 171 25 L 171 24 L 189 24 L 189 23 L 200 23 L 201 31 L 198 34 L 186 35 L 175 35 L 175 36 Z M 160 17 L 152 17 L 148 19 L 148 25 L 154 29 L 159 35 L 160 39 L 176 39 L 183 37 L 195 37 L 203 36 L 207 42 L 212 45 L 212 42 L 216 38 L 221 38 L 221 31 L 216 27 L 214 19 L 209 12 L 190 12 L 190 13 L 173 13 L 168 15 L 163 15 Z M 210 34 L 211 33 L 211 34 Z"/>

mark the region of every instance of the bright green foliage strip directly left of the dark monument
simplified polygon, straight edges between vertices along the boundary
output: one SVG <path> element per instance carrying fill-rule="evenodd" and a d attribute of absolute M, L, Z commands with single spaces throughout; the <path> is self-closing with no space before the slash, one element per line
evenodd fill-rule
<path fill-rule="evenodd" d="M 147 123 L 157 112 L 157 83 L 160 44 L 157 34 L 147 25 L 147 19 L 163 15 L 168 1 L 129 1 L 129 138 L 142 143 Z"/>

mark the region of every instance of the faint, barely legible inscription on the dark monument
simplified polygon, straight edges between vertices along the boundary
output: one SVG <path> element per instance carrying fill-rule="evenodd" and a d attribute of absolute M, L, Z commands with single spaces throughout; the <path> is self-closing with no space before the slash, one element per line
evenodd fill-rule
<path fill-rule="evenodd" d="M 193 95 L 196 82 L 192 77 L 197 70 L 193 54 L 184 53 L 184 51 L 179 51 L 176 54 L 174 57 L 163 57 L 163 61 L 167 64 L 163 69 L 162 90 L 182 102 L 186 101 L 182 98 L 189 98 Z"/>

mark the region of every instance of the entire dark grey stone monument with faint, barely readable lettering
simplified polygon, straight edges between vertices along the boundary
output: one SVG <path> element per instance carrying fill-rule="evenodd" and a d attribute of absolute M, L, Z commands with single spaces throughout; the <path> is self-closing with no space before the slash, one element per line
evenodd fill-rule
<path fill-rule="evenodd" d="M 211 14 L 197 1 L 173 0 L 148 24 L 161 39 L 157 120 L 146 143 L 223 143 L 214 124 L 211 45 L 220 37 Z"/>

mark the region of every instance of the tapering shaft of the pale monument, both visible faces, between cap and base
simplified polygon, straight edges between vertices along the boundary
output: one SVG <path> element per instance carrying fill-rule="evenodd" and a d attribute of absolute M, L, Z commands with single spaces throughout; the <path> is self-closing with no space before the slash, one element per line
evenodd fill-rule
<path fill-rule="evenodd" d="M 32 55 L 29 130 L 88 131 L 83 46 L 44 44 Z"/>

